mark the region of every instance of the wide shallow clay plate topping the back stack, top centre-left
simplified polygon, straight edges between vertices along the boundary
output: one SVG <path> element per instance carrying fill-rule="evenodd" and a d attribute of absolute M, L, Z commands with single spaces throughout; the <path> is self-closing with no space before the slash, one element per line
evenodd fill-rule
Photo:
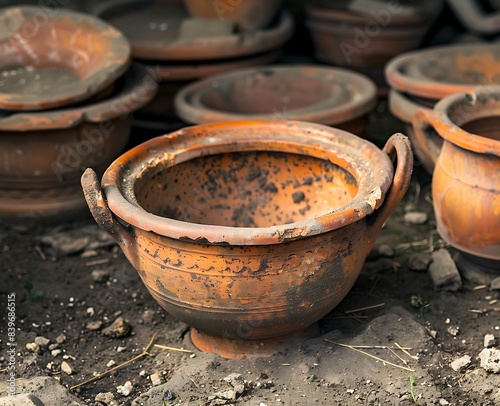
<path fill-rule="evenodd" d="M 162 2 L 120 0 L 106 3 L 95 12 L 125 33 L 135 58 L 147 60 L 199 61 L 248 56 L 278 48 L 293 33 L 288 12 L 283 12 L 270 28 L 246 33 L 235 32 L 224 20 L 194 21 L 183 6 Z M 205 23 L 210 27 L 204 27 Z M 208 35 L 214 24 L 220 26 Z"/>

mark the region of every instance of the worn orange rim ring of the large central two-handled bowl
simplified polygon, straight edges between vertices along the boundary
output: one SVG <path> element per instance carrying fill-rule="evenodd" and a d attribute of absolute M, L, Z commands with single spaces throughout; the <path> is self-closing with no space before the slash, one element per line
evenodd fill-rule
<path fill-rule="evenodd" d="M 135 198 L 135 182 L 149 167 L 165 161 L 173 165 L 206 155 L 245 151 L 281 151 L 322 159 L 327 156 L 354 176 L 358 193 L 348 205 L 332 212 L 262 228 L 204 225 L 165 218 L 148 213 Z M 111 212 L 139 229 L 198 243 L 267 245 L 325 233 L 372 214 L 382 205 L 393 174 L 386 153 L 348 132 L 297 121 L 241 121 L 187 127 L 151 139 L 115 160 L 101 184 Z"/>

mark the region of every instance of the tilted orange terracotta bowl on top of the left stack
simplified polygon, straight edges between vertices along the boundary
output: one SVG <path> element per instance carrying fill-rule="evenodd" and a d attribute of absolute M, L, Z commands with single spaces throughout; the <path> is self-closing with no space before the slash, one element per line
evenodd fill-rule
<path fill-rule="evenodd" d="M 0 11 L 0 108 L 45 110 L 87 99 L 130 65 L 130 46 L 95 17 L 47 7 Z"/>

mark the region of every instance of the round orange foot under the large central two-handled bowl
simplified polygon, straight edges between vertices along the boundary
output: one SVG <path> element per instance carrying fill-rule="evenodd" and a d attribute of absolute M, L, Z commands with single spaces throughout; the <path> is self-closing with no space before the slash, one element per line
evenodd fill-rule
<path fill-rule="evenodd" d="M 200 351 L 217 354 L 224 358 L 245 359 L 255 356 L 269 357 L 288 348 L 294 342 L 316 337 L 319 334 L 318 323 L 291 334 L 264 340 L 233 340 L 209 335 L 192 328 L 191 340 Z"/>

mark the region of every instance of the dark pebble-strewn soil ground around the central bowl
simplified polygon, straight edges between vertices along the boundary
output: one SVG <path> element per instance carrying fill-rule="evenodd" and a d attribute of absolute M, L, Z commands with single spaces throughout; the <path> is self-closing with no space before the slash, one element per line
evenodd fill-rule
<path fill-rule="evenodd" d="M 402 129 L 382 101 L 366 137 L 383 145 Z M 56 237 L 68 231 L 63 244 Z M 320 321 L 321 336 L 271 357 L 228 360 L 193 346 L 190 328 L 156 304 L 90 215 L 4 224 L 0 396 L 14 293 L 16 390 L 45 405 L 498 405 L 500 375 L 478 356 L 485 335 L 498 345 L 500 292 L 492 278 L 436 290 L 427 263 L 441 248 L 453 254 L 435 231 L 430 177 L 417 163 L 355 286 Z"/>

